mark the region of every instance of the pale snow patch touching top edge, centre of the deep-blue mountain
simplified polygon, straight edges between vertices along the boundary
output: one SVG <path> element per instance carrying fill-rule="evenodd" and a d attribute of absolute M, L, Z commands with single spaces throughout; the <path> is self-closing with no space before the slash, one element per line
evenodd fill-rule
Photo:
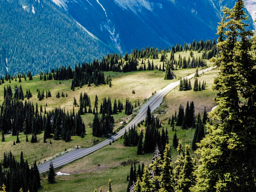
<path fill-rule="evenodd" d="M 114 0 L 117 5 L 123 9 L 130 9 L 134 14 L 137 15 L 138 12 L 142 12 L 143 8 L 153 11 L 154 4 L 147 0 Z M 159 6 L 159 5 L 158 5 Z"/>

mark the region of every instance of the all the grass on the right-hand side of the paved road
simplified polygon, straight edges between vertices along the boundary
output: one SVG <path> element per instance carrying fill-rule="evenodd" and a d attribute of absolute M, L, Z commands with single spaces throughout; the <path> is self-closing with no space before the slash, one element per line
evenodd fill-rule
<path fill-rule="evenodd" d="M 166 110 L 165 114 L 159 115 L 159 118 L 162 121 L 164 129 L 166 127 L 168 129 L 170 144 L 172 144 L 175 132 L 172 131 L 172 128 L 167 122 L 172 113 L 178 110 L 180 103 L 186 106 L 187 101 L 194 101 L 197 103 L 195 104 L 196 113 L 200 112 L 201 114 L 204 112 L 204 106 L 208 106 L 206 109 L 211 109 L 211 107 L 216 105 L 213 101 L 216 92 L 211 90 L 211 86 L 213 85 L 213 80 L 217 72 L 218 70 L 216 69 L 199 77 L 200 81 L 206 81 L 207 90 L 193 92 L 178 91 L 176 88 L 166 95 L 164 99 L 165 103 L 162 104 L 159 109 L 161 111 L 163 110 L 161 108 L 167 106 L 168 110 Z M 155 113 L 155 115 L 158 114 Z M 175 128 L 177 129 L 177 137 L 183 141 L 183 144 L 192 143 L 195 132 L 194 129 L 182 130 L 181 127 Z M 141 126 L 140 130 L 141 129 L 144 129 L 144 127 Z M 93 154 L 57 169 L 62 173 L 70 173 L 72 175 L 57 176 L 58 183 L 54 185 L 49 185 L 46 181 L 42 182 L 43 187 L 41 191 L 64 191 L 71 189 L 70 186 L 72 186 L 72 190 L 76 191 L 93 191 L 94 188 L 99 190 L 100 186 L 103 187 L 103 190 L 107 190 L 109 178 L 112 180 L 112 188 L 114 191 L 126 191 L 128 185 L 126 176 L 130 173 L 130 165 L 121 166 L 121 162 L 128 161 L 129 159 L 137 159 L 140 163 L 144 162 L 145 164 L 149 164 L 152 161 L 153 154 L 138 156 L 136 155 L 136 147 L 124 147 L 122 142 L 123 139 L 119 139 L 119 141 L 112 145 L 105 146 Z M 172 161 L 174 162 L 176 159 L 177 151 L 172 148 Z"/>

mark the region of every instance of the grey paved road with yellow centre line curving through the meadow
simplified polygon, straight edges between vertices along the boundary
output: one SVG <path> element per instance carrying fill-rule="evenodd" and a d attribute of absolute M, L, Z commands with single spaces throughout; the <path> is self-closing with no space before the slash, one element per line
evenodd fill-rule
<path fill-rule="evenodd" d="M 202 72 L 207 72 L 215 67 L 210 67 L 201 71 L 198 71 L 198 74 L 201 74 Z M 195 73 L 185 77 L 187 79 L 193 78 L 195 75 Z M 174 89 L 175 87 L 177 87 L 179 85 L 180 81 L 176 81 L 174 83 L 169 84 L 168 86 L 166 86 L 165 88 L 159 90 L 158 92 L 156 92 L 142 107 L 141 109 L 138 111 L 138 115 L 130 122 L 128 123 L 121 131 L 119 131 L 118 133 L 116 133 L 115 135 L 113 135 L 112 137 L 106 139 L 105 141 L 94 145 L 93 147 L 90 148 L 85 148 L 85 149 L 78 149 L 75 151 L 72 151 L 70 153 L 67 153 L 63 156 L 60 156 L 54 160 L 52 160 L 52 164 L 53 166 L 59 167 L 61 165 L 67 164 L 71 161 L 74 161 L 78 158 L 81 158 L 83 156 L 86 156 L 98 149 L 100 149 L 101 147 L 108 145 L 109 142 L 116 140 L 117 138 L 121 137 L 124 132 L 125 129 L 128 130 L 129 127 L 132 127 L 134 124 L 137 125 L 139 122 L 141 122 L 143 119 L 146 118 L 146 112 L 147 112 L 147 108 L 148 105 L 150 106 L 151 112 L 154 111 L 163 101 L 163 97 L 164 95 L 166 95 L 169 91 L 171 91 L 172 89 Z M 49 170 L 49 164 L 50 162 L 46 162 L 45 164 L 41 164 L 38 166 L 38 170 L 39 173 L 43 173 Z"/>

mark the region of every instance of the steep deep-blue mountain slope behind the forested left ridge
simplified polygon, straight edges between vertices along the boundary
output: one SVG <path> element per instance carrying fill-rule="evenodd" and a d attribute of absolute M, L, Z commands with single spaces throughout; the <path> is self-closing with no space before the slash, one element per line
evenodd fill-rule
<path fill-rule="evenodd" d="M 53 0 L 92 34 L 120 52 L 216 37 L 224 6 L 235 0 Z M 249 21 L 253 29 L 252 19 Z"/>

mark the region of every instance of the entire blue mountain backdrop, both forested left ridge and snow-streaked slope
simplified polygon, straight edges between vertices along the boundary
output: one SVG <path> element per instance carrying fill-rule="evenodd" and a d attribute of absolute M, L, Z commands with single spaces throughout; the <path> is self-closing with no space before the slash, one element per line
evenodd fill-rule
<path fill-rule="evenodd" d="M 249 0 L 248 0 L 249 1 Z M 136 47 L 212 39 L 236 0 L 2 0 L 0 74 L 49 71 Z M 249 20 L 254 29 L 253 21 Z"/>

